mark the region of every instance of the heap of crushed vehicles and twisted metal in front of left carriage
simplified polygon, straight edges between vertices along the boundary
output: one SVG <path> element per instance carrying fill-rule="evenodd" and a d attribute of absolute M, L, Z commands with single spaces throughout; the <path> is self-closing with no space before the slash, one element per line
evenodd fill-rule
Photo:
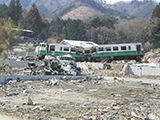
<path fill-rule="evenodd" d="M 75 59 L 70 55 L 44 60 L 44 64 L 37 66 L 35 62 L 29 62 L 24 68 L 27 75 L 80 75 L 81 68 L 77 67 Z"/>

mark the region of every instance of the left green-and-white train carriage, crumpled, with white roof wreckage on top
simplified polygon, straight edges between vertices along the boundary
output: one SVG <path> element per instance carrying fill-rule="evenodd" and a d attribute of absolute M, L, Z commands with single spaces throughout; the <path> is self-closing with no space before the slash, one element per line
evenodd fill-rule
<path fill-rule="evenodd" d="M 49 54 L 55 56 L 70 54 L 76 61 L 85 61 L 92 56 L 91 49 L 97 46 L 98 44 L 89 41 L 63 40 L 60 44 L 40 43 L 35 52 L 42 58 Z"/>

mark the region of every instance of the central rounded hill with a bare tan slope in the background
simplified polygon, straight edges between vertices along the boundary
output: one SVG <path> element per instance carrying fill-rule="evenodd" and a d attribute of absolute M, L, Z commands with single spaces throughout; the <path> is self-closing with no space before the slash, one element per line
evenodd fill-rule
<path fill-rule="evenodd" d="M 57 10 L 49 14 L 49 16 L 51 16 L 51 19 L 55 19 L 57 16 L 60 18 L 61 17 L 65 18 L 65 19 L 68 19 L 68 18 L 80 19 L 80 17 L 83 16 L 82 17 L 82 20 L 83 20 L 84 18 L 88 18 L 88 17 L 97 15 L 97 14 L 112 15 L 115 17 L 125 15 L 124 13 L 121 13 L 116 10 L 112 10 L 110 8 L 106 9 L 102 7 L 101 4 L 94 2 L 94 0 L 75 0 L 74 2 L 66 6 L 65 8 L 62 8 L 60 10 Z"/>

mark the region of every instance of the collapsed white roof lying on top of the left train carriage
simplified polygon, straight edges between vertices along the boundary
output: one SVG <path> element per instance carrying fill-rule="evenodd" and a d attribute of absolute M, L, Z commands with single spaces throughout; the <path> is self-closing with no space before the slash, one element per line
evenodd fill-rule
<path fill-rule="evenodd" d="M 94 42 L 90 42 L 90 41 L 75 41 L 75 40 L 63 40 L 62 42 L 60 42 L 60 44 L 71 45 L 71 46 L 75 46 L 75 47 L 81 47 L 81 48 L 84 48 L 84 49 L 90 49 L 90 48 L 98 46 L 98 44 L 96 44 Z"/>

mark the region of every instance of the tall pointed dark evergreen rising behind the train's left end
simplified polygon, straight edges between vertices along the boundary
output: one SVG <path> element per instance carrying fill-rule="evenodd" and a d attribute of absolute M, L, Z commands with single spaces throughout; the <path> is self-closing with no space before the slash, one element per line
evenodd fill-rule
<path fill-rule="evenodd" d="M 26 16 L 26 23 L 28 28 L 34 31 L 35 36 L 40 35 L 42 29 L 45 27 L 45 23 L 42 22 L 42 18 L 39 14 L 39 10 L 36 4 L 32 4 L 32 7 L 28 11 Z"/>

